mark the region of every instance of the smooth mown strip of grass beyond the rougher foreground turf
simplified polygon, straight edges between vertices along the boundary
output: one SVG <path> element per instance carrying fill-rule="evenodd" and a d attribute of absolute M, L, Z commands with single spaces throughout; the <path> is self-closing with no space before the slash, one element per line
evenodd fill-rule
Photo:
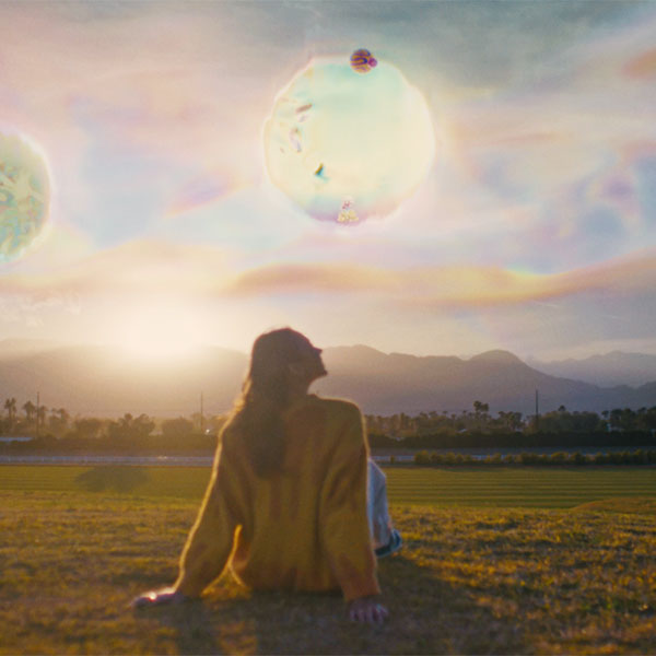
<path fill-rule="evenodd" d="M 389 467 L 391 503 L 432 506 L 571 508 L 613 497 L 656 495 L 656 468 L 604 469 Z M 209 468 L 0 466 L 0 490 L 114 491 L 200 499 Z"/>

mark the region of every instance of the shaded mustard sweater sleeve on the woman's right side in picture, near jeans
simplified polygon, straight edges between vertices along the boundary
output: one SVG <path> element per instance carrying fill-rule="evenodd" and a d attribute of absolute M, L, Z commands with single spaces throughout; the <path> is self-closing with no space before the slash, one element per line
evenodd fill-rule
<path fill-rule="evenodd" d="M 319 511 L 323 547 L 347 601 L 380 593 L 366 515 L 367 457 L 362 415 L 349 405 Z"/>

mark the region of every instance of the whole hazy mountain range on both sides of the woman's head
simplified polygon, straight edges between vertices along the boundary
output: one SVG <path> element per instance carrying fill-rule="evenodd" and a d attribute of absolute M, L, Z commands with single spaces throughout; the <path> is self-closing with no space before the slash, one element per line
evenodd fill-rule
<path fill-rule="evenodd" d="M 34 344 L 32 344 L 34 347 Z M 207 412 L 224 412 L 239 393 L 247 356 L 207 347 L 185 363 L 138 364 L 112 347 L 50 347 L 0 342 L 0 411 L 13 396 L 22 406 L 36 399 L 82 415 L 118 417 L 145 412 L 155 417 L 198 411 L 200 394 Z M 350 398 L 366 413 L 418 413 L 470 410 L 475 400 L 499 410 L 525 414 L 565 406 L 600 412 L 618 407 L 656 406 L 656 382 L 632 388 L 601 388 L 555 377 L 528 366 L 507 351 L 489 351 L 469 360 L 383 353 L 370 347 L 324 351 L 329 375 L 313 390 Z"/>

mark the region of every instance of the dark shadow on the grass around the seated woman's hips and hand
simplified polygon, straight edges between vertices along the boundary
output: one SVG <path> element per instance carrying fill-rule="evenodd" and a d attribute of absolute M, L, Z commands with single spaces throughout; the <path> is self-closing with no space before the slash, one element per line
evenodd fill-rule
<path fill-rule="evenodd" d="M 528 654 L 516 621 L 482 606 L 473 589 L 442 581 L 397 554 L 379 563 L 390 619 L 349 621 L 341 596 L 247 593 L 230 576 L 202 601 L 152 609 L 179 654 Z"/>

